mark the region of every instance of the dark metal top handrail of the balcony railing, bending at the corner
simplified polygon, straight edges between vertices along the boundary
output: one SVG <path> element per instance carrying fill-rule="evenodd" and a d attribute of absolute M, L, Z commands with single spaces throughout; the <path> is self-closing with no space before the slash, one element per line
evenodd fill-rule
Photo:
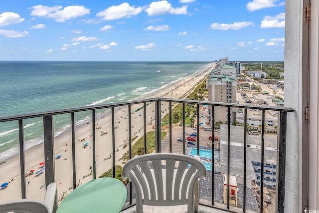
<path fill-rule="evenodd" d="M 264 109 L 264 110 L 273 110 L 273 111 L 279 111 L 279 112 L 295 112 L 293 108 L 288 108 L 288 107 L 276 107 L 276 106 L 271 107 L 271 106 L 265 106 L 265 105 L 257 106 L 257 105 L 248 105 L 248 104 L 234 104 L 234 103 L 221 103 L 221 102 L 212 102 L 212 101 L 196 101 L 196 100 L 170 99 L 170 98 L 149 98 L 149 99 L 143 99 L 143 100 L 119 102 L 119 103 L 112 103 L 112 104 L 85 106 L 85 107 L 53 110 L 53 111 L 40 112 L 40 113 L 30 113 L 30 114 L 23 114 L 23 115 L 0 117 L 0 122 L 43 117 L 47 115 L 59 115 L 59 114 L 66 114 L 66 113 L 72 113 L 72 112 L 82 112 L 82 111 L 89 111 L 93 109 L 98 110 L 98 109 L 105 109 L 105 108 L 111 108 L 111 107 L 120 107 L 120 106 L 132 105 L 132 104 L 142 104 L 142 103 L 153 102 L 153 101 L 167 101 L 167 102 L 178 102 L 178 103 L 185 103 L 185 104 L 200 104 L 200 105 L 204 104 L 204 105 L 222 106 L 222 107 L 237 107 L 237 108 L 241 107 L 241 108 L 247 108 L 247 109 Z"/>

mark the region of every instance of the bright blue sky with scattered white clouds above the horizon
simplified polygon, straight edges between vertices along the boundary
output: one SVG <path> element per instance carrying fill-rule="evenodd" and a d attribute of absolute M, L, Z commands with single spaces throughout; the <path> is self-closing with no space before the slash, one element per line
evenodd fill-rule
<path fill-rule="evenodd" d="M 1 0 L 0 60 L 283 61 L 284 0 Z"/>

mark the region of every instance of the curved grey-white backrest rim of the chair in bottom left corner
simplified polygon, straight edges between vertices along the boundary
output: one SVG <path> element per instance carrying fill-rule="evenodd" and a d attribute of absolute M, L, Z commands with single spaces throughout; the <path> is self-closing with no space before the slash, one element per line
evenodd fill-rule
<path fill-rule="evenodd" d="M 20 199 L 1 202 L 0 213 L 50 213 L 50 210 L 40 201 Z"/>

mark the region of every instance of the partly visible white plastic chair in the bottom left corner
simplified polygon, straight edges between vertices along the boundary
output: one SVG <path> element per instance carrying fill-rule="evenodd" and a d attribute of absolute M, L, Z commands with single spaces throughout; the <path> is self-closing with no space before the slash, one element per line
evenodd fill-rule
<path fill-rule="evenodd" d="M 0 202 L 0 213 L 55 213 L 57 208 L 56 187 L 56 183 L 48 185 L 44 202 L 32 199 Z"/>

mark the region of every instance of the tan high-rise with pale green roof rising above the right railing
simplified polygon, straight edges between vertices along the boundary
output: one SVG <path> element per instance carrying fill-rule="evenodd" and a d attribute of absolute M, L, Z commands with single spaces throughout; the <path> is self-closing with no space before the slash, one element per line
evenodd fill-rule
<path fill-rule="evenodd" d="M 208 89 L 208 101 L 236 103 L 236 68 L 224 65 L 211 71 L 206 80 L 206 88 Z M 215 107 L 215 122 L 226 123 L 229 114 L 232 123 L 235 113 L 235 109 L 231 109 L 228 113 L 228 107 Z M 213 124 L 211 126 L 213 127 Z"/>

